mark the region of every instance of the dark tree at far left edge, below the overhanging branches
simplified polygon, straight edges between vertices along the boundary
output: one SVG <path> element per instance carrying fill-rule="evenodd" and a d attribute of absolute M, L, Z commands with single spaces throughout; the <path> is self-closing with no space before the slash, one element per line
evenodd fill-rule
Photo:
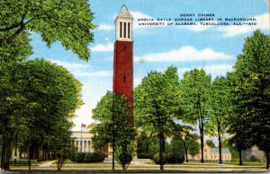
<path fill-rule="evenodd" d="M 4 67 L 6 69 L 8 67 Z M 9 169 L 9 158 L 12 148 L 12 140 L 16 129 L 22 123 L 21 116 L 23 114 L 23 103 L 25 98 L 20 90 L 18 78 L 15 75 L 16 67 L 9 66 L 9 70 L 4 71 L 6 74 L 14 74 L 14 76 L 5 75 L 1 76 L 1 105 L 0 105 L 0 128 L 2 133 L 2 156 L 1 168 L 4 170 Z M 3 69 L 2 69 L 3 70 Z"/>

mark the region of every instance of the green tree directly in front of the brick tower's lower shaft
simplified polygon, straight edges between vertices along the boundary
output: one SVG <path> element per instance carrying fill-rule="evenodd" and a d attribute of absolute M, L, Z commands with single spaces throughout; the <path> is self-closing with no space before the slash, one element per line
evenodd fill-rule
<path fill-rule="evenodd" d="M 117 161 L 121 162 L 122 169 L 126 170 L 130 163 L 130 155 L 133 155 L 131 151 L 135 139 L 135 129 L 130 126 L 128 101 L 121 94 L 107 92 L 93 109 L 93 118 L 99 122 L 91 130 L 94 134 L 94 144 L 102 146 L 111 143 L 112 170 L 114 170 L 115 151 L 118 154 Z"/>

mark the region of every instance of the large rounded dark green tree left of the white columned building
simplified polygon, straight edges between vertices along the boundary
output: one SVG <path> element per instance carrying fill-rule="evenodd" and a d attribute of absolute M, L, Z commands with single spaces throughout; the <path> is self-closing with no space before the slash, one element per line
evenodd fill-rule
<path fill-rule="evenodd" d="M 46 143 L 44 137 L 58 131 L 58 122 L 65 123 L 82 104 L 81 84 L 65 68 L 47 61 L 28 61 L 22 68 L 24 95 L 28 100 L 25 114 L 29 118 L 24 137 L 30 141 L 30 157 L 40 159 L 40 147 Z"/>

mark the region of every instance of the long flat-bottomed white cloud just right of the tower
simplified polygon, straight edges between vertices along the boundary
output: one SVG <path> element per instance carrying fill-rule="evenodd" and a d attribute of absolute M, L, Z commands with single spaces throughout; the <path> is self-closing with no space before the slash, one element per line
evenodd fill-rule
<path fill-rule="evenodd" d="M 137 62 L 187 62 L 202 60 L 228 60 L 233 58 L 222 52 L 216 52 L 211 48 L 198 50 L 192 46 L 185 46 L 163 53 L 150 53 L 142 57 L 135 57 Z"/>

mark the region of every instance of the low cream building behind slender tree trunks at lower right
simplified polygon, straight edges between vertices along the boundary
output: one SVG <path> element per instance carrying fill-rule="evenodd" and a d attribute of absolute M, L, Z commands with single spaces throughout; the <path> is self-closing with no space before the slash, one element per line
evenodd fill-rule
<path fill-rule="evenodd" d="M 231 161 L 231 153 L 229 152 L 229 148 L 222 148 L 221 150 L 221 159 L 222 161 Z M 220 153 L 219 148 L 211 148 L 207 144 L 203 147 L 203 158 L 204 161 L 219 161 Z M 188 160 L 200 161 L 201 160 L 201 152 L 191 155 L 188 154 Z"/>

